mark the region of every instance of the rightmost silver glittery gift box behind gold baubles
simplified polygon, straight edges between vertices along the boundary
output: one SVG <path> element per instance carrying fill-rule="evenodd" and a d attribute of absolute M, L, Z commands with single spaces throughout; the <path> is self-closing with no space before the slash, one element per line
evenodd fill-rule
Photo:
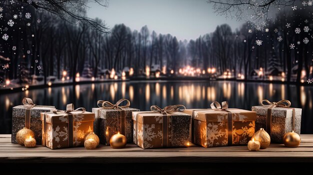
<path fill-rule="evenodd" d="M 282 143 L 283 136 L 291 131 L 300 135 L 300 108 L 290 108 L 290 101 L 269 102 L 262 100 L 261 106 L 252 106 L 256 112 L 255 130 L 263 128 L 270 136 L 270 142 Z"/>

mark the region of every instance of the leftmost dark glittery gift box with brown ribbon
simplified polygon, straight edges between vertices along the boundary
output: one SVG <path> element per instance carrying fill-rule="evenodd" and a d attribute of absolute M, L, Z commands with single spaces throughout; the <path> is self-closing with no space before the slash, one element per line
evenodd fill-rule
<path fill-rule="evenodd" d="M 41 144 L 41 112 L 52 112 L 54 106 L 35 105 L 30 98 L 23 98 L 23 105 L 12 108 L 11 142 L 16 142 L 16 133 L 25 128 L 33 131 L 37 144 Z"/>

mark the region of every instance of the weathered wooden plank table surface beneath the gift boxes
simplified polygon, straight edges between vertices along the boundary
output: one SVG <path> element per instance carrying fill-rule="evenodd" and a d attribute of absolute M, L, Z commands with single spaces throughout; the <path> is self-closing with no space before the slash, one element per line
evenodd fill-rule
<path fill-rule="evenodd" d="M 124 149 L 99 145 L 95 150 L 83 147 L 50 150 L 37 145 L 25 148 L 12 144 L 11 135 L 0 135 L 0 163 L 238 163 L 238 162 L 313 162 L 313 135 L 301 135 L 297 148 L 271 144 L 258 152 L 247 146 L 202 148 L 163 148 L 143 150 L 134 144 Z"/>

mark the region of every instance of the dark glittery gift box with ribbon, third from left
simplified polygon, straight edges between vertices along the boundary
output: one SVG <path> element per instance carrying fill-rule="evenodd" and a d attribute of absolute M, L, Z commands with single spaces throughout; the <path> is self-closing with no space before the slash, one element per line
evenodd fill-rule
<path fill-rule="evenodd" d="M 126 105 L 121 105 L 123 102 L 126 102 Z M 116 104 L 99 100 L 97 105 L 99 108 L 92 108 L 95 114 L 93 128 L 100 143 L 109 145 L 110 138 L 117 133 L 124 135 L 127 143 L 132 143 L 131 112 L 139 110 L 129 108 L 130 102 L 126 99 L 120 99 Z"/>

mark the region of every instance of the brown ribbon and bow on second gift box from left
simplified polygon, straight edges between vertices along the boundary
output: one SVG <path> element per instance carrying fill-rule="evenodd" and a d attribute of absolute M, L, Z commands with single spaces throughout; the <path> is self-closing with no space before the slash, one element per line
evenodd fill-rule
<path fill-rule="evenodd" d="M 71 104 L 67 104 L 66 105 L 66 111 L 62 111 L 62 110 L 57 110 L 57 109 L 54 109 L 53 110 L 53 113 L 54 114 L 66 114 L 68 115 L 68 123 L 67 123 L 67 135 L 68 135 L 68 147 L 73 147 L 73 114 L 72 112 L 76 112 L 74 114 L 82 114 L 86 111 L 85 108 L 77 108 L 77 109 L 74 109 L 74 105 L 71 103 Z M 45 120 L 45 118 L 44 118 Z M 46 122 L 44 121 L 44 128 L 46 128 Z"/>

